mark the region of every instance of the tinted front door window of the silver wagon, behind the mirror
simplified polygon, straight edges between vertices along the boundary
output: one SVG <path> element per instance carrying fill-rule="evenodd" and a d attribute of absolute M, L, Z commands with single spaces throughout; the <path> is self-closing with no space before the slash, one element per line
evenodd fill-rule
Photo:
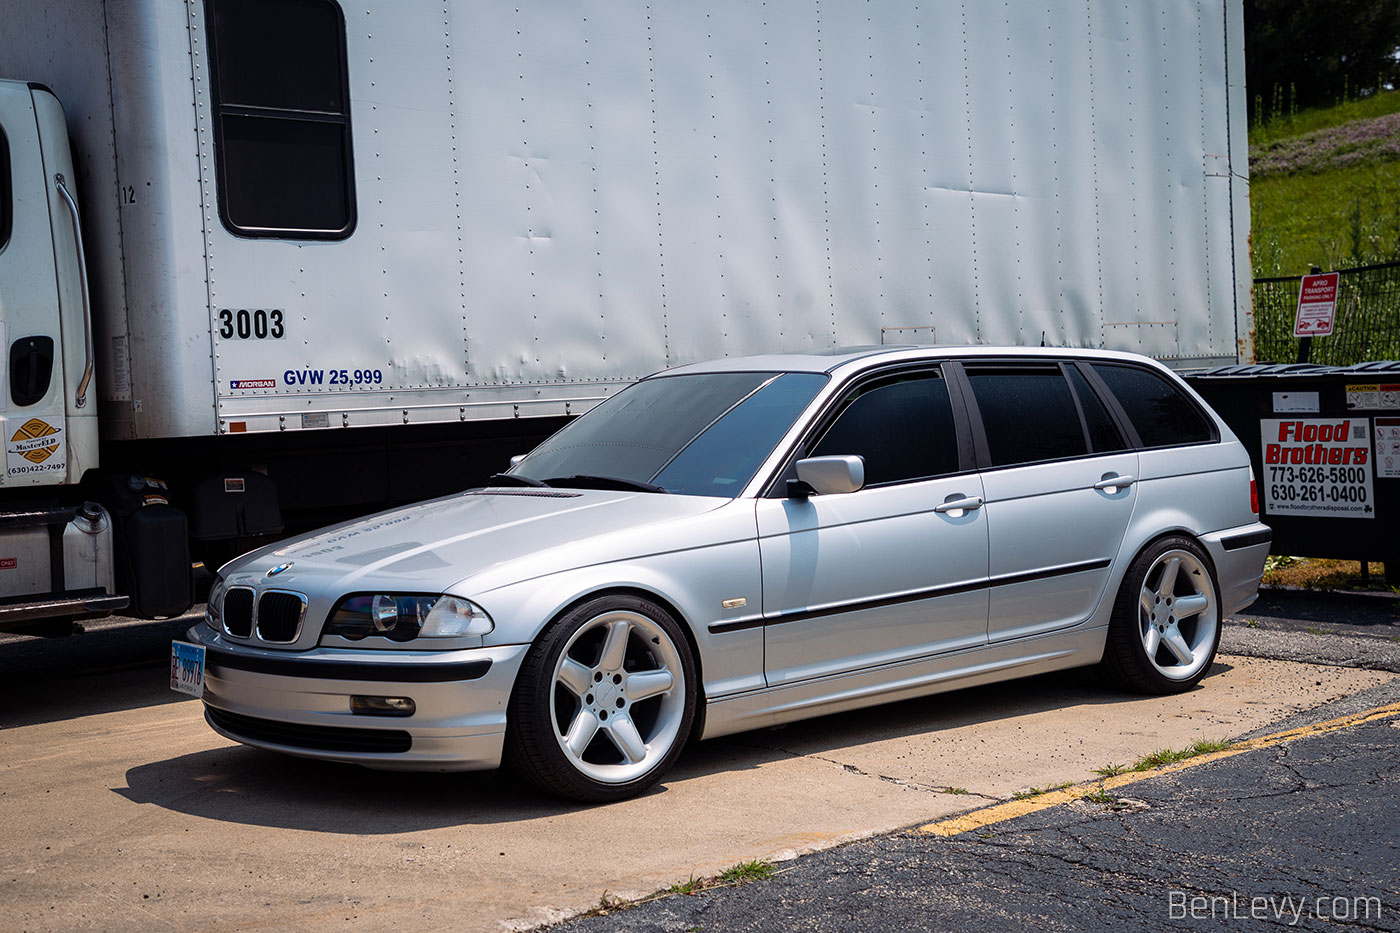
<path fill-rule="evenodd" d="M 865 485 L 958 472 L 958 436 L 948 385 L 920 373 L 861 389 L 808 457 L 857 454 Z"/>

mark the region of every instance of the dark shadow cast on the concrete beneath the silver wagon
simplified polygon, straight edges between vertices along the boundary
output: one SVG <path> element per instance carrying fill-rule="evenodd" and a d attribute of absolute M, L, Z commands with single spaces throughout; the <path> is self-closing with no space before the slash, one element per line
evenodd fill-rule
<path fill-rule="evenodd" d="M 1217 663 L 1211 674 L 1231 670 Z M 1207 681 L 1208 684 L 1208 681 Z M 798 755 L 927 735 L 1011 716 L 1140 699 L 1088 670 L 839 713 L 693 744 L 647 796 L 720 772 Z M 489 773 L 370 770 L 230 744 L 139 765 L 113 792 L 133 803 L 221 822 L 312 832 L 385 835 L 452 825 L 526 822 L 599 804 L 574 804 L 529 787 L 508 769 Z M 372 800 L 372 806 L 365 806 Z M 624 803 L 616 806 L 626 806 Z"/>

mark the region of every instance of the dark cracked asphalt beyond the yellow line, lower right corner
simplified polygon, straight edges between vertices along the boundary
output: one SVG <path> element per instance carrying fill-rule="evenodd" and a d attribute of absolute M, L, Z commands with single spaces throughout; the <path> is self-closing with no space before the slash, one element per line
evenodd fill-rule
<path fill-rule="evenodd" d="M 1387 684 L 1306 719 L 1397 700 Z M 1098 800 L 955 836 L 910 828 L 778 864 L 766 880 L 550 929 L 1400 930 L 1397 726 L 1400 707 Z"/>

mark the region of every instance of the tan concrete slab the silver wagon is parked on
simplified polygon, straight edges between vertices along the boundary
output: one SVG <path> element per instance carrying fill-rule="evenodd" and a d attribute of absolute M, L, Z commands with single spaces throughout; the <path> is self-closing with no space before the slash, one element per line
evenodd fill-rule
<path fill-rule="evenodd" d="M 1240 735 L 1393 677 L 1222 657 L 1197 691 L 1140 698 L 1049 675 L 703 742 L 662 787 L 606 807 L 508 776 L 234 745 L 197 702 L 171 702 L 160 668 L 3 691 L 0 902 L 15 929 L 525 927 Z"/>

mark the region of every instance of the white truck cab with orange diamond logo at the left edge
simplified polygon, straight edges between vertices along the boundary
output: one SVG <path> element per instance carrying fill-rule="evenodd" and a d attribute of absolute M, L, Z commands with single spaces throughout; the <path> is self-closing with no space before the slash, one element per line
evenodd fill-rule
<path fill-rule="evenodd" d="M 97 465 L 92 311 L 63 108 L 0 81 L 0 629 L 64 630 L 127 605 Z"/>

